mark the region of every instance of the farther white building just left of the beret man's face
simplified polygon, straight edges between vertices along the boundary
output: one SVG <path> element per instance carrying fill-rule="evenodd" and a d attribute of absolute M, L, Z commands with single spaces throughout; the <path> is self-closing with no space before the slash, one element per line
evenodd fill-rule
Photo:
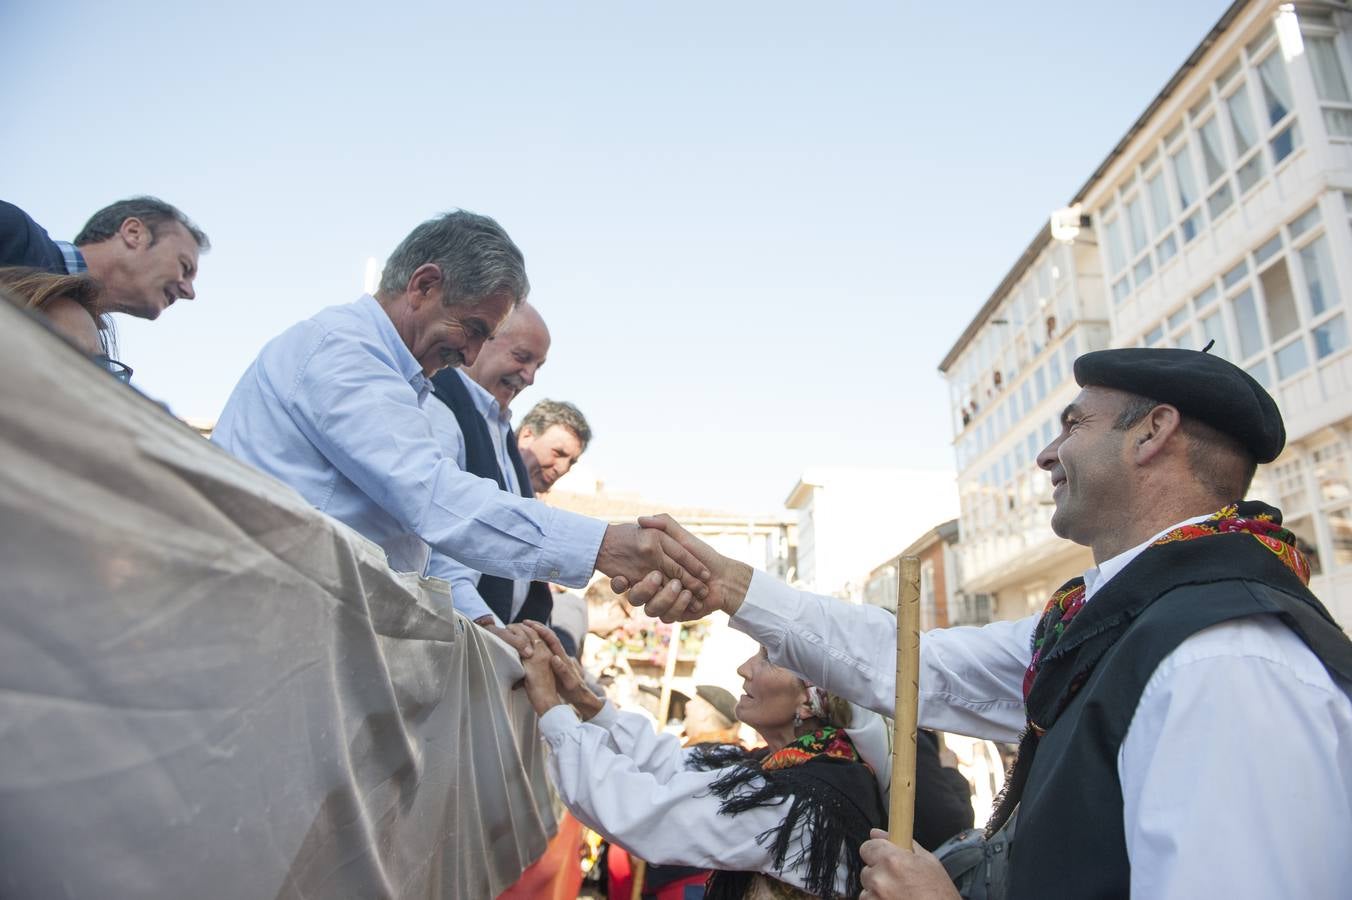
<path fill-rule="evenodd" d="M 1044 227 L 940 365 L 956 438 L 961 584 L 955 619 L 1018 619 L 1088 554 L 1052 534 L 1034 458 L 1076 393 L 1071 365 L 1109 345 L 1098 246 Z"/>

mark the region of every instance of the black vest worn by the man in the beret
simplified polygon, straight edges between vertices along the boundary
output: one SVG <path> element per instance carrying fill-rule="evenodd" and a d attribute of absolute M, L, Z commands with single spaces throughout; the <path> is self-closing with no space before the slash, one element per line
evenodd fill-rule
<path fill-rule="evenodd" d="M 1011 900 L 1129 896 L 1117 757 L 1141 692 L 1188 636 L 1263 614 L 1295 631 L 1329 672 L 1352 680 L 1348 636 L 1301 580 L 1248 534 L 1151 547 L 1073 619 L 1029 697 L 1038 720 L 1040 688 L 1086 678 L 1064 711 L 1051 714 L 1055 720 L 1033 757 L 1010 855 Z M 1042 684 L 1044 677 L 1049 682 Z"/>

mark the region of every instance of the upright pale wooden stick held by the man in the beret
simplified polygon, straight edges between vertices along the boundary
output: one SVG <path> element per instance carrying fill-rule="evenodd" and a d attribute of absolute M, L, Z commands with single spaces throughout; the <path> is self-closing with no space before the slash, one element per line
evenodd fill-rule
<path fill-rule="evenodd" d="M 896 711 L 892 716 L 891 842 L 910 853 L 915 826 L 915 714 L 921 681 L 921 561 L 896 566 Z"/>

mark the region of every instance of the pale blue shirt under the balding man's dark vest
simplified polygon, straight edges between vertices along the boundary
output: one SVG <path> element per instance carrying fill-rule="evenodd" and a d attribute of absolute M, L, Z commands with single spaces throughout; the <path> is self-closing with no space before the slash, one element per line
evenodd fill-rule
<path fill-rule="evenodd" d="M 511 439 L 511 412 L 498 405 L 498 399 L 488 393 L 481 384 L 470 378 L 461 369 L 456 369 L 456 376 L 464 382 L 465 389 L 475 401 L 475 409 L 484 418 L 488 426 L 488 435 L 493 442 L 493 458 L 498 469 L 503 473 L 507 489 L 521 496 L 521 484 L 516 480 L 516 466 L 511 464 L 507 454 L 507 442 Z M 446 455 L 456 461 L 461 469 L 465 468 L 465 435 L 460 430 L 460 420 L 441 400 L 433 400 L 425 405 L 427 419 L 431 422 L 431 431 L 437 442 L 446 451 Z M 504 624 L 488 603 L 479 595 L 479 572 L 462 562 L 435 550 L 427 561 L 427 574 L 443 578 L 450 582 L 450 596 L 454 607 L 470 619 L 492 616 L 499 626 Z M 526 605 L 526 593 L 530 591 L 530 578 L 515 578 L 511 593 L 511 618 L 515 619 L 521 608 Z"/>

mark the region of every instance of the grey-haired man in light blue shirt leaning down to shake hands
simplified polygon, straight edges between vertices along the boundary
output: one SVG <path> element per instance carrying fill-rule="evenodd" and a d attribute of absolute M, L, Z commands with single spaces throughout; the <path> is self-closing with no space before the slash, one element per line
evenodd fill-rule
<path fill-rule="evenodd" d="M 521 250 L 492 219 L 425 222 L 375 296 L 329 307 L 262 349 L 212 441 L 379 543 L 393 569 L 423 572 L 435 549 L 504 578 L 581 586 L 594 569 L 630 582 L 658 572 L 703 596 L 704 566 L 667 535 L 500 491 L 437 442 L 430 376 L 473 364 L 529 289 Z M 514 627 L 504 636 L 529 655 L 530 635 Z"/>

